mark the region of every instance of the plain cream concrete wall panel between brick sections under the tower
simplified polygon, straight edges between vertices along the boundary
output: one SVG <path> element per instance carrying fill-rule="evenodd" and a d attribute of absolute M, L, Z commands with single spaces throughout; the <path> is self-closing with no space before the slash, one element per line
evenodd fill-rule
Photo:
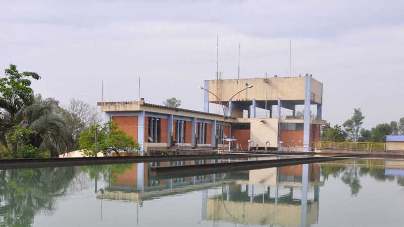
<path fill-rule="evenodd" d="M 265 122 L 260 122 L 265 120 Z M 257 143 L 260 147 L 265 147 L 265 141 L 269 141 L 268 147 L 277 147 L 278 144 L 278 119 L 250 119 L 251 140 L 254 147 Z M 252 144 L 251 144 L 252 146 Z"/>

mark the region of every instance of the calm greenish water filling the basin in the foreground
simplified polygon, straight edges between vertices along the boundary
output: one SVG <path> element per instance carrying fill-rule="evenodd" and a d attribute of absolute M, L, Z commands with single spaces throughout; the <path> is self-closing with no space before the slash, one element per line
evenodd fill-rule
<path fill-rule="evenodd" d="M 195 162 L 2 169 L 0 226 L 404 226 L 403 161 L 150 176 Z"/>

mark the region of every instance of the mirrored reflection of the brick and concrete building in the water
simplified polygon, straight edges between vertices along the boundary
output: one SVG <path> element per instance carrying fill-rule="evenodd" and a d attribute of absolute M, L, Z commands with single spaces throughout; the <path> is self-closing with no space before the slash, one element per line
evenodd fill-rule
<path fill-rule="evenodd" d="M 151 166 L 213 163 L 217 160 L 134 163 L 111 177 L 97 199 L 133 201 L 202 192 L 201 218 L 208 221 L 277 226 L 310 226 L 318 221 L 320 165 L 255 169 L 243 172 L 156 180 Z"/>

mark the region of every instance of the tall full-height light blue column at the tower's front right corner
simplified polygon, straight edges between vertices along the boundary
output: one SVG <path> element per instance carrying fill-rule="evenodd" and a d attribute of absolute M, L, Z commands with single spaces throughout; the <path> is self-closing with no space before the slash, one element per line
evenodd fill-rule
<path fill-rule="evenodd" d="M 303 125 L 303 151 L 308 152 L 310 146 L 310 103 L 311 103 L 311 77 L 306 77 L 305 89 L 305 115 Z"/>

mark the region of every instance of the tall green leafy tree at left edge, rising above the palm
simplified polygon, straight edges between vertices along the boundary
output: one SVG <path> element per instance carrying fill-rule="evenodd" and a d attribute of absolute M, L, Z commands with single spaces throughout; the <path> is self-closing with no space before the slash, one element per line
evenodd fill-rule
<path fill-rule="evenodd" d="M 30 78 L 39 80 L 40 76 L 34 72 L 19 73 L 13 64 L 5 70 L 5 77 L 0 78 L 0 142 L 6 148 L 6 135 L 16 123 L 17 112 L 34 100 Z"/>

